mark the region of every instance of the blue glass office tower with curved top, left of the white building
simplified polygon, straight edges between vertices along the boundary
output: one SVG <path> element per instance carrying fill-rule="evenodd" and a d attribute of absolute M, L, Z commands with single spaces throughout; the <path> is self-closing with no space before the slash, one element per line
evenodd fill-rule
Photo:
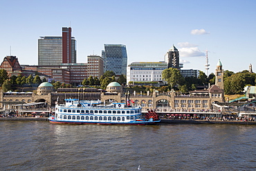
<path fill-rule="evenodd" d="M 102 50 L 104 72 L 113 71 L 116 75 L 126 75 L 127 51 L 123 44 L 104 44 Z"/>

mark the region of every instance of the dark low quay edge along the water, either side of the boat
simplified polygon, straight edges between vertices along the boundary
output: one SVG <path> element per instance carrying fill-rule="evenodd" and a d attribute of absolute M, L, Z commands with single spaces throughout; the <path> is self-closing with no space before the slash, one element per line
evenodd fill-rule
<path fill-rule="evenodd" d="M 35 117 L 17 117 L 17 118 L 0 118 L 0 121 L 48 121 L 48 118 Z M 236 120 L 184 120 L 184 119 L 161 119 L 160 124 L 240 124 L 240 125 L 256 125 L 256 121 L 236 121 Z"/>

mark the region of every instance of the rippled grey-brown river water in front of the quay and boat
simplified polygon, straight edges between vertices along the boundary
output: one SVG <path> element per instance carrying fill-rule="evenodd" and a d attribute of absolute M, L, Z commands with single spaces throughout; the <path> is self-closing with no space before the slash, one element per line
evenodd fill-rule
<path fill-rule="evenodd" d="M 255 125 L 0 122 L 0 170 L 256 170 Z"/>

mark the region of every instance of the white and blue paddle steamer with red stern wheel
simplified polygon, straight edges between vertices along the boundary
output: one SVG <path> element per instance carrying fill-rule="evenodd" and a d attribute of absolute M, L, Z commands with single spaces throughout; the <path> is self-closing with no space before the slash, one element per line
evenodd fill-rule
<path fill-rule="evenodd" d="M 149 111 L 143 117 L 141 110 L 141 107 L 120 102 L 102 105 L 100 100 L 65 99 L 65 104 L 56 105 L 55 114 L 48 119 L 51 123 L 102 125 L 153 125 L 160 122 L 156 112 Z"/>

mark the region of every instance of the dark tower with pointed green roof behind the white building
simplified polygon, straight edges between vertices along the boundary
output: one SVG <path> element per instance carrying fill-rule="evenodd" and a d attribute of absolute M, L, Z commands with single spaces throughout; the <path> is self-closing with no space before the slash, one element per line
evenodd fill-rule
<path fill-rule="evenodd" d="M 168 64 L 168 69 L 181 69 L 179 64 L 179 51 L 174 45 L 172 45 L 170 50 L 165 54 L 165 62 Z"/>

